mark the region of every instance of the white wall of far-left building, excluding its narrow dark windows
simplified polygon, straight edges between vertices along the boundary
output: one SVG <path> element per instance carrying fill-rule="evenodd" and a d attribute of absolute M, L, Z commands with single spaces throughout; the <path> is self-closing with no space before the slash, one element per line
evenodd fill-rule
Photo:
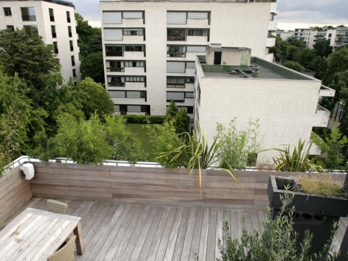
<path fill-rule="evenodd" d="M 10 7 L 12 16 L 4 16 L 3 7 Z M 21 7 L 34 7 L 36 21 L 22 21 Z M 80 61 L 78 57 L 75 10 L 73 7 L 55 4 L 45 1 L 0 1 L 0 29 L 6 29 L 6 25 L 15 28 L 23 28 L 23 25 L 37 25 L 38 33 L 46 44 L 57 42 L 59 62 L 62 66 L 63 83 L 73 77 L 73 69 L 76 75 L 80 74 Z M 54 22 L 50 21 L 49 8 L 53 9 Z M 66 11 L 70 12 L 71 23 L 67 22 Z M 52 38 L 51 25 L 55 26 L 56 38 Z M 72 37 L 68 35 L 68 26 L 72 28 Z M 73 41 L 74 51 L 70 50 L 69 41 Z M 75 57 L 75 66 L 72 66 L 71 56 Z"/>

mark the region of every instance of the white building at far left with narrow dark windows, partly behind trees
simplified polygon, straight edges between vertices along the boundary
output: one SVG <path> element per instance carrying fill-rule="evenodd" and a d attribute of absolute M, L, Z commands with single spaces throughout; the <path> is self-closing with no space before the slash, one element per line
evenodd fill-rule
<path fill-rule="evenodd" d="M 63 83 L 80 74 L 75 7 L 62 0 L 0 0 L 0 29 L 25 28 L 53 45 L 62 67 Z M 76 78 L 77 81 L 79 78 Z"/>

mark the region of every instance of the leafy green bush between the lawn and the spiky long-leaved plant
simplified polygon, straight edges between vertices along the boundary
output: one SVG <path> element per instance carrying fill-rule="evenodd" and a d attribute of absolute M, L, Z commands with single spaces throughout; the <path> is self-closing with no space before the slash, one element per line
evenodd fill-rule
<path fill-rule="evenodd" d="M 180 167 L 184 165 L 182 157 L 172 160 L 172 155 L 158 157 L 164 151 L 173 151 L 179 144 L 178 134 L 175 131 L 174 121 L 165 121 L 162 124 L 146 124 L 146 129 L 150 137 L 150 142 L 154 150 L 150 158 L 156 159 L 164 167 Z"/>

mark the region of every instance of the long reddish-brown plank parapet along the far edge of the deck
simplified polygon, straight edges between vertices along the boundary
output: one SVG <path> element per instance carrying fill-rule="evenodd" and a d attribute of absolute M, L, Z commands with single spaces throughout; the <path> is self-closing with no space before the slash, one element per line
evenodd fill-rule
<path fill-rule="evenodd" d="M 240 184 L 225 171 L 33 163 L 33 197 L 66 200 L 264 210 L 269 171 L 236 171 Z M 293 173 L 281 173 L 288 176 Z M 344 175 L 340 177 L 344 179 Z"/>

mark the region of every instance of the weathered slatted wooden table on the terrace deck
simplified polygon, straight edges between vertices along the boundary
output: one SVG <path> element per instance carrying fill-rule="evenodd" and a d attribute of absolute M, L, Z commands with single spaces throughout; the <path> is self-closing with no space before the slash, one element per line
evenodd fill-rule
<path fill-rule="evenodd" d="M 0 260 L 47 260 L 74 232 L 84 252 L 81 217 L 27 208 L 0 231 Z"/>

